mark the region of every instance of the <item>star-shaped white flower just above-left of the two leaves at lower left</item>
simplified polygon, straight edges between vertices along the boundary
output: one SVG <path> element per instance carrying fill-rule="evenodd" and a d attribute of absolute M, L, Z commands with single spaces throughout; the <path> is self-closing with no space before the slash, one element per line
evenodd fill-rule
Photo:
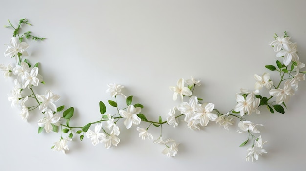
<path fill-rule="evenodd" d="M 56 111 L 56 105 L 54 102 L 60 99 L 59 95 L 53 94 L 51 90 L 46 90 L 45 95 L 36 95 L 37 99 L 42 102 L 39 105 L 39 110 L 44 112 L 47 109 L 51 109 L 52 111 Z"/>

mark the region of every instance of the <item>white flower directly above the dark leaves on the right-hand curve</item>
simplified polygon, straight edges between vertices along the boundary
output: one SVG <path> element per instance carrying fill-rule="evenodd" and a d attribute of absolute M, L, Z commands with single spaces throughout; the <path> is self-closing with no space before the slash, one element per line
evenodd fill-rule
<path fill-rule="evenodd" d="M 291 89 L 290 81 L 286 81 L 283 89 L 271 89 L 270 95 L 276 97 L 276 104 L 287 103 L 290 96 L 294 95 L 294 90 Z"/>

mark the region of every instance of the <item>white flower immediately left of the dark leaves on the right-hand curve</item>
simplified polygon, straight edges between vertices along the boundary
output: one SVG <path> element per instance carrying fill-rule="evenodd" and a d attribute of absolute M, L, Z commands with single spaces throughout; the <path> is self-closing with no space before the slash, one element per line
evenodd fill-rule
<path fill-rule="evenodd" d="M 255 99 L 255 104 L 259 104 L 258 101 L 260 99 Z M 246 98 L 244 96 L 236 94 L 236 101 L 237 105 L 234 107 L 234 111 L 240 112 L 240 116 L 243 116 L 245 113 L 248 115 L 252 114 L 252 112 L 255 110 L 254 108 L 258 107 L 254 105 L 254 94 L 251 93 L 247 95 Z"/>

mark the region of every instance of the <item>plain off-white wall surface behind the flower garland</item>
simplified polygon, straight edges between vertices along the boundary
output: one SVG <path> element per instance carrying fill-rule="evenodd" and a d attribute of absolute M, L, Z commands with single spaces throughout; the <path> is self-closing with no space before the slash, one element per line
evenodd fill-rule
<path fill-rule="evenodd" d="M 0 4 L 0 25 L 27 18 L 33 26 L 22 31 L 47 38 L 27 41 L 28 59 L 40 62 L 46 82 L 37 93 L 50 89 L 60 95 L 57 106 L 75 107 L 70 124 L 83 126 L 100 119 L 98 103 L 111 99 L 105 90 L 113 82 L 123 84 L 124 93 L 134 95 L 151 120 L 159 115 L 165 119 L 179 104 L 172 101 L 168 87 L 190 76 L 202 81 L 199 97 L 224 113 L 233 109 L 240 88 L 254 89 L 253 75 L 275 64 L 277 57 L 268 45 L 274 33 L 287 31 L 306 63 L 305 6 L 304 0 L 6 0 Z M 1 52 L 11 36 L 12 29 L 0 28 Z M 13 62 L 0 59 L 5 65 Z M 236 132 L 238 120 L 229 131 L 214 122 L 201 131 L 183 122 L 177 128 L 165 126 L 163 137 L 180 143 L 174 158 L 161 154 L 163 146 L 142 141 L 135 126 L 127 130 L 122 122 L 118 147 L 94 147 L 86 137 L 80 142 L 74 135 L 69 152 L 53 152 L 50 148 L 60 133 L 37 134 L 40 115 L 22 121 L 19 110 L 7 101 L 12 79 L 1 78 L 0 84 L 2 171 L 304 170 L 305 82 L 285 114 L 262 107 L 261 114 L 247 117 L 264 125 L 260 131 L 268 141 L 268 154 L 253 163 L 245 162 L 250 144 L 239 147 L 247 134 Z M 149 132 L 158 138 L 158 128 Z"/>

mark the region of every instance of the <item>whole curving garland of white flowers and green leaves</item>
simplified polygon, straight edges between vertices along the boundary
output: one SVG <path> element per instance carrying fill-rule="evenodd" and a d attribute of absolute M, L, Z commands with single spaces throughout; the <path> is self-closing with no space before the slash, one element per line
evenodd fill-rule
<path fill-rule="evenodd" d="M 69 122 L 74 114 L 73 107 L 66 108 L 64 105 L 57 107 L 55 103 L 60 96 L 50 90 L 46 90 L 45 95 L 35 93 L 35 88 L 40 83 L 45 83 L 43 77 L 38 74 L 39 64 L 32 65 L 27 59 L 22 59 L 22 57 L 28 56 L 26 50 L 29 47 L 26 42 L 23 42 L 23 38 L 31 38 L 32 40 L 44 40 L 44 38 L 33 36 L 31 32 L 25 32 L 21 35 L 20 28 L 23 24 L 31 25 L 27 19 L 20 19 L 17 27 L 14 27 L 10 21 L 9 25 L 6 26 L 13 28 L 14 32 L 4 56 L 15 57 L 16 60 L 15 65 L 9 64 L 5 66 L 0 64 L 0 70 L 4 72 L 5 78 L 12 75 L 15 78 L 14 87 L 11 94 L 8 95 L 8 100 L 11 102 L 12 108 L 18 107 L 20 109 L 20 116 L 23 120 L 28 119 L 31 111 L 39 110 L 42 113 L 42 118 L 38 120 L 38 133 L 43 132 L 43 130 L 46 133 L 60 132 L 60 139 L 54 143 L 52 149 L 63 153 L 69 150 L 68 142 L 72 141 L 75 135 L 79 135 L 81 141 L 86 136 L 94 146 L 100 143 L 104 143 L 106 149 L 112 145 L 117 146 L 120 142 L 118 122 L 123 120 L 123 124 L 127 129 L 130 129 L 133 125 L 139 125 L 141 122 L 147 123 L 146 128 L 136 127 L 142 140 L 153 140 L 153 136 L 148 130 L 152 127 L 159 127 L 160 136 L 154 140 L 154 143 L 165 147 L 162 151 L 163 154 L 168 157 L 174 157 L 178 152 L 178 143 L 171 138 L 164 140 L 162 135 L 163 125 L 176 127 L 179 119 L 183 118 L 187 127 L 191 130 L 200 130 L 206 127 L 210 121 L 219 123 L 224 129 L 228 130 L 229 125 L 234 124 L 234 119 L 238 119 L 240 130 L 237 132 L 248 134 L 247 140 L 240 147 L 250 144 L 247 149 L 246 161 L 258 160 L 259 155 L 267 153 L 263 148 L 263 144 L 267 143 L 267 141 L 262 140 L 258 129 L 259 126 L 263 125 L 247 120 L 246 116 L 252 113 L 260 114 L 259 106 L 266 106 L 271 113 L 276 111 L 284 114 L 286 103 L 297 91 L 299 82 L 305 80 L 304 73 L 306 72 L 300 71 L 301 68 L 305 67 L 305 64 L 299 61 L 297 44 L 292 43 L 290 37 L 284 32 L 282 37 L 275 34 L 275 40 L 269 44 L 277 53 L 276 57 L 283 58 L 283 62 L 276 60 L 276 66 L 265 66 L 270 71 L 277 72 L 280 79 L 272 81 L 269 73 L 263 73 L 262 76 L 255 74 L 255 90 L 241 89 L 241 92 L 236 94 L 237 104 L 226 113 L 221 113 L 213 103 L 203 102 L 201 98 L 193 94 L 196 86 L 201 84 L 200 80 L 195 80 L 193 77 L 187 80 L 181 78 L 177 81 L 176 86 L 169 87 L 174 92 L 173 100 L 178 99 L 181 103 L 169 111 L 166 119 L 159 116 L 157 121 L 151 121 L 141 113 L 143 105 L 134 104 L 132 95 L 126 96 L 122 93 L 124 86 L 113 83 L 108 84 L 109 88 L 106 92 L 110 93 L 113 98 L 113 100 L 108 100 L 108 103 L 116 109 L 117 113 L 106 113 L 106 105 L 100 101 L 100 113 L 102 114 L 100 120 L 90 122 L 84 126 L 71 126 Z M 269 90 L 268 95 L 258 94 L 263 87 Z M 126 98 L 126 104 L 117 103 L 119 96 Z M 65 138 L 63 134 L 66 134 Z M 258 134 L 259 136 L 257 136 Z"/>

